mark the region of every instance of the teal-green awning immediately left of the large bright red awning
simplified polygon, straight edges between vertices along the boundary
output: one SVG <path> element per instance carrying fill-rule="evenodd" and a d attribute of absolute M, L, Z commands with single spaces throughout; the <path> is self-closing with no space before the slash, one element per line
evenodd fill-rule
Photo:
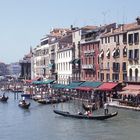
<path fill-rule="evenodd" d="M 86 81 L 80 85 L 80 87 L 91 87 L 91 88 L 97 88 L 102 84 L 102 82 L 90 82 Z"/>

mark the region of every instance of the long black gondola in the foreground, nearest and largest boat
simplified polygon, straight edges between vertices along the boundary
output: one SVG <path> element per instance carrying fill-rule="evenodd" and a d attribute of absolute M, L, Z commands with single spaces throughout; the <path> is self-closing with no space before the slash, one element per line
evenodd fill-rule
<path fill-rule="evenodd" d="M 69 112 L 60 111 L 60 110 L 53 110 L 53 111 L 54 111 L 54 113 L 65 116 L 65 117 L 71 117 L 71 118 L 77 118 L 77 119 L 89 119 L 89 120 L 105 120 L 105 119 L 115 117 L 118 114 L 118 112 L 114 112 L 114 113 L 107 114 L 107 115 L 88 116 L 88 115 L 84 115 L 84 114 L 71 114 Z"/>

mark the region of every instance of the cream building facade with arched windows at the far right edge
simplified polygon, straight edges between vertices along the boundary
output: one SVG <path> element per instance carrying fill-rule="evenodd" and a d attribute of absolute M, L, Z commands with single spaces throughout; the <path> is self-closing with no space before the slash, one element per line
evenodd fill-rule
<path fill-rule="evenodd" d="M 140 82 L 140 18 L 127 26 L 128 81 Z"/>

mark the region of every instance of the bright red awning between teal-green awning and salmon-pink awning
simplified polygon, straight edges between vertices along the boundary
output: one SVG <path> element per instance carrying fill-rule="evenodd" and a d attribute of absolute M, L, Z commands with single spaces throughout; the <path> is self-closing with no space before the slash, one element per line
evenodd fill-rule
<path fill-rule="evenodd" d="M 111 91 L 113 88 L 115 88 L 118 85 L 118 83 L 114 82 L 108 82 L 108 83 L 103 83 L 101 86 L 97 88 L 97 90 L 105 90 L 105 91 Z"/>

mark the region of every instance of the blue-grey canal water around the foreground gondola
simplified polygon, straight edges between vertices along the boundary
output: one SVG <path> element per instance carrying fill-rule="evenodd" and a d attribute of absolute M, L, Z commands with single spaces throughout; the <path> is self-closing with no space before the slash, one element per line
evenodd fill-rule
<path fill-rule="evenodd" d="M 29 110 L 18 106 L 12 93 L 0 102 L 0 140 L 140 140 L 140 112 L 109 108 L 118 116 L 105 121 L 65 118 L 53 113 L 52 105 L 33 100 Z M 78 101 L 58 104 L 57 109 L 78 112 Z M 94 112 L 101 114 L 103 110 Z"/>

